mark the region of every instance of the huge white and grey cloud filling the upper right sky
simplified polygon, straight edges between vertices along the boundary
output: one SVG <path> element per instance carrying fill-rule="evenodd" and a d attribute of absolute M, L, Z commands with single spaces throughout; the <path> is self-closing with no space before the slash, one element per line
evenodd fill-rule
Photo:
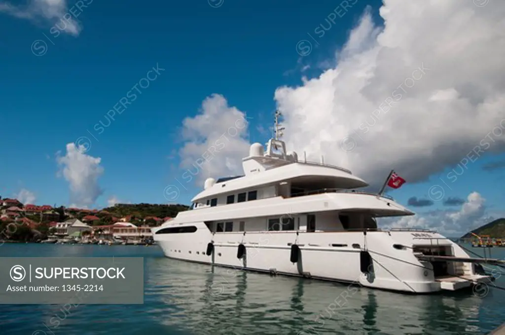
<path fill-rule="evenodd" d="M 505 2 L 385 0 L 380 15 L 365 12 L 332 68 L 276 90 L 288 150 L 378 187 L 390 169 L 422 181 L 505 149 Z"/>

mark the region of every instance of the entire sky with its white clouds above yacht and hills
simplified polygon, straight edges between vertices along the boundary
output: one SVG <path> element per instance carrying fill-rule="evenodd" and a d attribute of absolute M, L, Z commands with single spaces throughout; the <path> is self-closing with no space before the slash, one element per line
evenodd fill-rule
<path fill-rule="evenodd" d="M 242 172 L 278 109 L 299 157 L 373 191 L 391 169 L 407 180 L 387 194 L 417 215 L 386 226 L 464 233 L 505 216 L 504 14 L 489 0 L 0 0 L 0 195 L 189 204 Z"/>

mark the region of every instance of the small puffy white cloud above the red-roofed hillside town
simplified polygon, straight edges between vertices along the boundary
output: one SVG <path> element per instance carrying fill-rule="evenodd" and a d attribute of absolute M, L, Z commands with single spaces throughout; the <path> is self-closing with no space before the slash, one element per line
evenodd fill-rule
<path fill-rule="evenodd" d="M 59 174 L 69 182 L 71 207 L 89 207 L 103 194 L 98 178 L 104 173 L 101 158 L 84 154 L 84 147 L 67 144 L 65 156 L 58 155 Z"/>

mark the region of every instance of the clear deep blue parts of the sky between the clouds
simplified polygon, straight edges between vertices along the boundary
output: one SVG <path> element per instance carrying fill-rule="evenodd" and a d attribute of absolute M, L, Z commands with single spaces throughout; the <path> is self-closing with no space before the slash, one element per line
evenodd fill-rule
<path fill-rule="evenodd" d="M 165 186 L 184 172 L 179 155 L 187 142 L 181 135 L 183 120 L 201 113 L 206 98 L 221 94 L 228 106 L 246 112 L 250 118 L 247 139 L 264 143 L 269 131 L 263 129 L 271 126 L 273 111 L 283 104 L 274 99 L 279 87 L 304 85 L 302 77 L 318 78 L 334 68 L 346 55 L 342 52 L 345 43 L 367 7 L 374 27 L 384 26 L 381 1 L 349 1 L 355 4 L 337 11 L 342 17 L 331 16 L 335 22 L 324 36 L 315 28 L 321 23 L 328 27 L 325 19 L 340 6 L 332 1 L 146 0 L 118 5 L 86 0 L 88 7 L 81 11 L 72 7 L 75 2 L 61 3 L 66 7 L 58 13 L 72 9 L 79 14 L 78 22 L 55 37 L 57 18 L 37 15 L 23 7 L 25 2 L 13 2 L 11 9 L 2 10 L 2 4 L 9 3 L 0 2 L 0 28 L 5 32 L 0 54 L 4 64 L 0 70 L 3 197 L 25 189 L 33 193 L 37 204 L 71 205 L 70 182 L 58 173 L 57 157 L 66 155 L 68 143 L 85 136 L 90 140 L 85 154 L 100 158 L 103 168 L 97 179 L 103 193 L 89 207 L 107 206 L 112 197 L 132 203 L 167 203 Z M 15 6 L 19 6 L 17 11 L 12 9 Z M 20 17 L 23 11 L 30 13 L 29 19 Z M 371 32 L 370 38 L 376 35 Z M 297 43 L 304 39 L 313 49 L 300 57 Z M 106 113 L 120 106 L 120 99 L 153 67 L 163 70 L 152 81 L 144 79 L 149 86 L 141 88 L 137 99 L 98 133 L 93 127 L 100 121 L 108 124 Z M 473 148 L 467 147 L 463 152 Z M 467 200 L 478 192 L 491 212 L 502 211 L 505 196 L 497 185 L 502 184 L 505 170 L 483 169 L 505 160 L 498 147 L 493 150 L 470 163 L 456 182 L 443 185 L 444 199 Z M 455 159 L 441 166 L 437 163 L 433 173 L 410 178 L 414 182 L 407 178 L 408 164 L 390 166 L 408 179 L 390 195 L 404 205 L 411 197 L 429 199 L 430 187 L 442 185 L 439 177 L 447 179 L 457 163 Z M 382 169 L 377 180 L 387 172 L 388 168 Z M 200 187 L 190 185 L 177 202 L 188 203 Z M 423 212 L 447 206 L 436 201 L 412 209 Z"/>

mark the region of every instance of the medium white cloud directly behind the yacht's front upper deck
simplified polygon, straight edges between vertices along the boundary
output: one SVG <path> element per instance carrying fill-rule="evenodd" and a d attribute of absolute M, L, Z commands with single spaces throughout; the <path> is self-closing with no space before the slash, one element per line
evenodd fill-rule
<path fill-rule="evenodd" d="M 199 114 L 183 121 L 180 181 L 201 183 L 208 177 L 241 174 L 242 158 L 250 145 L 247 119 L 244 112 L 228 106 L 222 95 L 205 99 Z"/>

